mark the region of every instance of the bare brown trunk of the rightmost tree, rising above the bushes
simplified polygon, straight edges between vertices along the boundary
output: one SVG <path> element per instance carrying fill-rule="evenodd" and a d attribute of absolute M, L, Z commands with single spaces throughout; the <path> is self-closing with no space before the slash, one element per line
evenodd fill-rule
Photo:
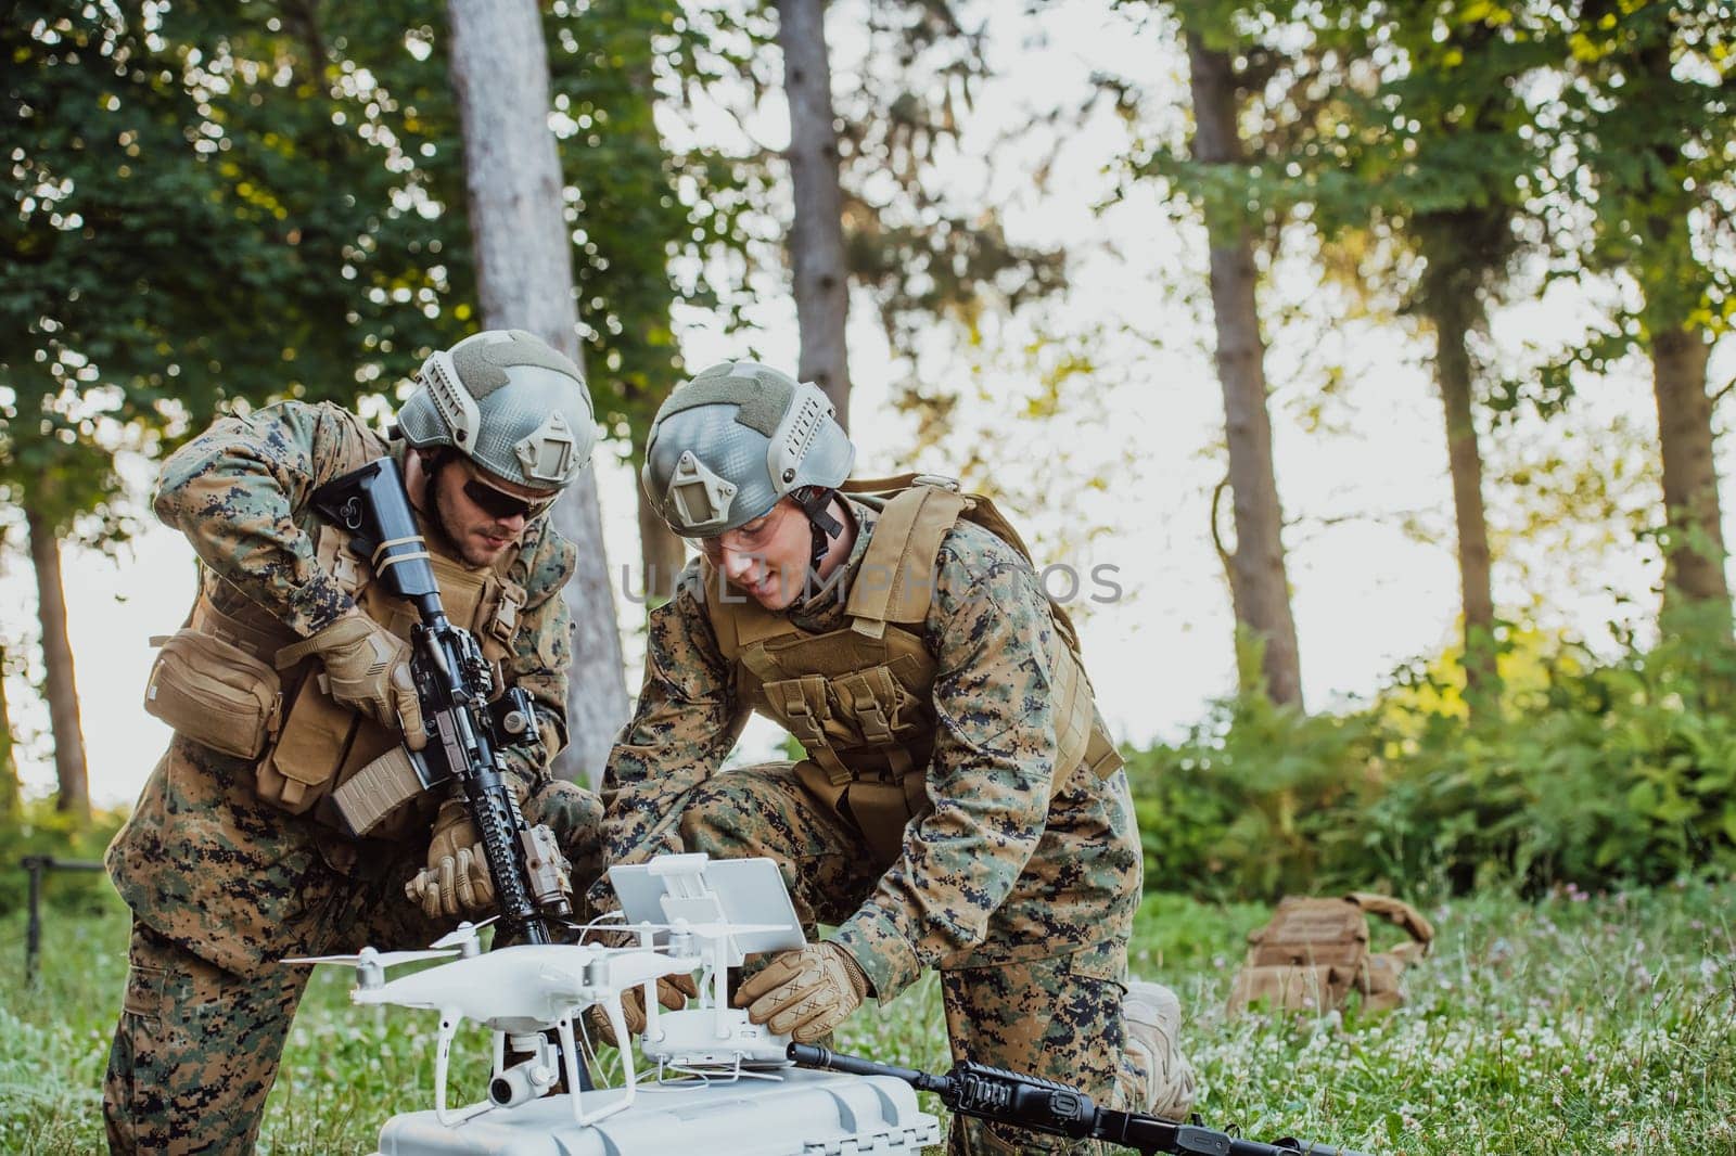
<path fill-rule="evenodd" d="M 1712 456 L 1712 399 L 1706 397 L 1710 352 L 1703 333 L 1682 328 L 1665 330 L 1651 344 L 1663 505 L 1670 524 L 1663 587 L 1667 611 L 1693 602 L 1729 611 L 1719 474 Z"/>

